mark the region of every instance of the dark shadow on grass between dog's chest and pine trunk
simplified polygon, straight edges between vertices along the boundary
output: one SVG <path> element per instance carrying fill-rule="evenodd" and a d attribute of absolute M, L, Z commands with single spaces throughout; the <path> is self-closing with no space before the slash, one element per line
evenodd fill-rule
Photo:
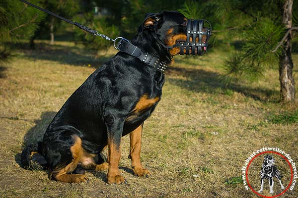
<path fill-rule="evenodd" d="M 183 63 L 185 62 L 183 61 Z M 169 74 L 168 81 L 171 82 L 171 84 L 188 89 L 192 92 L 226 94 L 228 91 L 232 90 L 259 101 L 268 101 L 272 96 L 279 94 L 278 91 L 271 89 L 251 88 L 238 84 L 231 84 L 226 87 L 220 80 L 224 77 L 223 75 L 203 69 L 169 67 L 167 73 Z M 187 80 L 171 78 L 171 75 L 179 75 L 187 78 Z"/>

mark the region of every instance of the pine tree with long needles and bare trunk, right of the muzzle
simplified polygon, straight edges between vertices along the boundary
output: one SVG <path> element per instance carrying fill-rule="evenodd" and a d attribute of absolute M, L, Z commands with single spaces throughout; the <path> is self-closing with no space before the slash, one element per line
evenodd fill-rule
<path fill-rule="evenodd" d="M 257 80 L 267 69 L 279 68 L 281 101 L 295 101 L 291 42 L 297 37 L 292 14 L 297 19 L 298 10 L 292 9 L 293 0 L 219 0 L 216 4 L 216 14 L 233 23 L 244 42 L 242 51 L 226 62 L 228 75 Z"/>

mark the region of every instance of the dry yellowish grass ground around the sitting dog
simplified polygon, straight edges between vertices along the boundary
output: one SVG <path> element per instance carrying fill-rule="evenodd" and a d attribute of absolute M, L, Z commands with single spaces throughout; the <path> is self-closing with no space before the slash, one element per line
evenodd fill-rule
<path fill-rule="evenodd" d="M 150 178 L 132 174 L 129 138 L 122 140 L 120 172 L 126 185 L 108 185 L 107 172 L 86 172 L 89 183 L 51 181 L 46 170 L 20 167 L 20 153 L 40 141 L 63 103 L 114 50 L 90 54 L 72 43 L 35 51 L 19 46 L 0 65 L 0 197 L 2 198 L 257 198 L 242 184 L 241 167 L 263 147 L 278 147 L 298 163 L 298 110 L 281 104 L 278 71 L 268 71 L 258 83 L 237 82 L 225 88 L 219 80 L 228 51 L 204 57 L 176 57 L 165 72 L 163 96 L 145 122 L 143 165 Z M 293 55 L 295 67 L 298 54 Z M 294 69 L 298 82 L 297 68 Z M 288 164 L 275 155 L 287 187 Z M 259 190 L 262 157 L 251 163 L 250 183 Z M 275 194 L 282 192 L 275 180 Z M 264 196 L 269 194 L 265 182 Z M 298 187 L 282 198 L 297 198 Z"/>

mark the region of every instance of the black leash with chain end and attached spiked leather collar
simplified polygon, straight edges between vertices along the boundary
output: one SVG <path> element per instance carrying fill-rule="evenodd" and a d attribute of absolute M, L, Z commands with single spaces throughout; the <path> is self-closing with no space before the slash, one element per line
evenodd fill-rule
<path fill-rule="evenodd" d="M 166 69 L 166 65 L 163 61 L 161 61 L 158 57 L 155 57 L 155 56 L 152 56 L 150 55 L 149 53 L 147 52 L 143 52 L 140 48 L 138 48 L 137 46 L 133 45 L 132 43 L 129 42 L 129 40 L 123 38 L 123 37 L 117 37 L 116 39 L 111 39 L 109 38 L 108 36 L 104 35 L 104 34 L 99 34 L 96 30 L 92 30 L 86 26 L 83 26 L 81 24 L 79 24 L 78 22 L 73 22 L 69 19 L 66 19 L 62 16 L 59 16 L 58 14 L 55 14 L 49 10 L 46 10 L 44 8 L 41 8 L 37 5 L 34 5 L 26 0 L 20 0 L 28 5 L 31 5 L 32 7 L 35 7 L 43 12 L 46 12 L 52 16 L 55 16 L 56 18 L 59 18 L 67 23 L 70 23 L 72 25 L 75 25 L 77 26 L 78 28 L 90 33 L 90 34 L 93 34 L 95 36 L 100 36 L 108 41 L 112 41 L 114 42 L 114 47 L 115 49 L 118 49 L 122 52 L 125 52 L 131 56 L 134 56 L 134 57 L 137 57 L 139 58 L 142 62 L 156 68 L 157 70 L 159 71 L 164 71 Z M 119 40 L 118 44 L 117 44 L 117 40 Z"/>

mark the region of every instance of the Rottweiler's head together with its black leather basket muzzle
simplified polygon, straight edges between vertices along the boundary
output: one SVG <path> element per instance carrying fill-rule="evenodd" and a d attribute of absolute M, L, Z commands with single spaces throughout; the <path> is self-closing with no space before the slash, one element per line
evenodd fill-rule
<path fill-rule="evenodd" d="M 203 21 L 188 20 L 177 11 L 148 13 L 139 27 L 139 33 L 149 31 L 156 35 L 163 46 L 170 47 L 168 49 L 171 55 L 202 55 L 207 50 L 207 41 L 211 35 L 211 29 L 202 24 Z M 196 31 L 199 26 L 202 26 L 201 31 Z"/>

